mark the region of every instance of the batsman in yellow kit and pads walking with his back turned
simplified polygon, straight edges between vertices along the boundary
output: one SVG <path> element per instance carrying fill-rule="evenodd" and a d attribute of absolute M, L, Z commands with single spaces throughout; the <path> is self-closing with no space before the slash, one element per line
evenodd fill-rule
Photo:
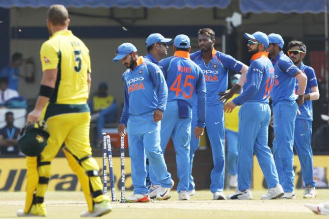
<path fill-rule="evenodd" d="M 43 78 L 35 108 L 27 123 L 46 121 L 50 137 L 40 156 L 27 157 L 27 195 L 18 216 L 46 216 L 44 197 L 51 176 L 51 162 L 61 145 L 68 164 L 82 185 L 88 211 L 82 217 L 110 213 L 110 198 L 103 194 L 99 166 L 91 157 L 90 57 L 83 42 L 68 30 L 70 20 L 63 5 L 52 5 L 47 13 L 51 35 L 41 46 Z"/>

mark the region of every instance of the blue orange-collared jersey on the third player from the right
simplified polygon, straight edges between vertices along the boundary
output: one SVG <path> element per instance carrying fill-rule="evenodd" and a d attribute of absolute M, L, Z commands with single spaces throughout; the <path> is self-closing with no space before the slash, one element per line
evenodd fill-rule
<path fill-rule="evenodd" d="M 235 105 L 239 106 L 245 102 L 269 103 L 274 82 L 274 67 L 268 55 L 268 52 L 252 55 L 244 91 L 234 98 Z"/>

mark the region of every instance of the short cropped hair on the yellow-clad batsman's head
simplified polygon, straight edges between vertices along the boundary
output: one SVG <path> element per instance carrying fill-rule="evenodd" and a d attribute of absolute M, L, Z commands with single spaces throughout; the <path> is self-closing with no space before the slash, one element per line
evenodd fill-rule
<path fill-rule="evenodd" d="M 61 4 L 53 4 L 48 9 L 47 19 L 55 26 L 66 26 L 69 19 L 69 12 Z"/>

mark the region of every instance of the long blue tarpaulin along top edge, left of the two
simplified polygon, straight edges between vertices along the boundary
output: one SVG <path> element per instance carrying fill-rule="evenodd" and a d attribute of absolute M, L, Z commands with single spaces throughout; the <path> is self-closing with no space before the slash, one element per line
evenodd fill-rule
<path fill-rule="evenodd" d="M 0 0 L 0 7 L 49 7 L 63 4 L 67 7 L 161 7 L 161 8 L 226 8 L 231 0 Z"/>

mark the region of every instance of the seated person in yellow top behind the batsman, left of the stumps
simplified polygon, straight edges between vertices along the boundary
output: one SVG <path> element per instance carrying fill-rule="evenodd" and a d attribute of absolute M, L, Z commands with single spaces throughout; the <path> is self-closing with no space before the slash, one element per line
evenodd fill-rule
<path fill-rule="evenodd" d="M 89 107 L 91 110 L 91 121 L 97 120 L 97 137 L 102 140 L 102 130 L 105 123 L 113 123 L 118 118 L 118 105 L 115 98 L 108 94 L 108 85 L 101 82 L 96 94 L 91 98 Z"/>

